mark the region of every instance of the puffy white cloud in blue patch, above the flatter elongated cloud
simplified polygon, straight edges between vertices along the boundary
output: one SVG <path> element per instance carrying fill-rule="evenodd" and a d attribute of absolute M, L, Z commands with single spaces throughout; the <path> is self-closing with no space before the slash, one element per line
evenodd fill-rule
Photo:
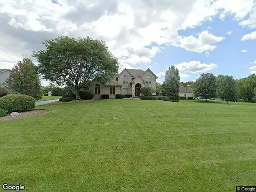
<path fill-rule="evenodd" d="M 217 37 L 209 33 L 207 30 L 198 35 L 198 38 L 190 35 L 187 37 L 178 36 L 174 46 L 180 46 L 187 51 L 203 53 L 205 51 L 213 51 L 217 48 L 213 43 L 218 43 L 224 40 L 225 37 Z"/>

